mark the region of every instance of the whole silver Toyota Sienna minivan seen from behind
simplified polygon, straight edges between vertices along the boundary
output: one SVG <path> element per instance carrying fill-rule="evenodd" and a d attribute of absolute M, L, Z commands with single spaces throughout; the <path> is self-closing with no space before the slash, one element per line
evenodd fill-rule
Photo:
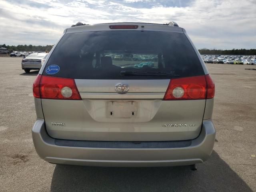
<path fill-rule="evenodd" d="M 193 167 L 214 146 L 214 90 L 175 22 L 74 26 L 34 81 L 34 146 L 55 164 Z"/>

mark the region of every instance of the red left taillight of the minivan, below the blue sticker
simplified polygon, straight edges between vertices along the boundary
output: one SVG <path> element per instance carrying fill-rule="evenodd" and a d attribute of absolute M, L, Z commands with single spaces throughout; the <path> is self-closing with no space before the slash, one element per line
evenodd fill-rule
<path fill-rule="evenodd" d="M 74 79 L 38 75 L 33 94 L 42 99 L 81 100 Z"/>

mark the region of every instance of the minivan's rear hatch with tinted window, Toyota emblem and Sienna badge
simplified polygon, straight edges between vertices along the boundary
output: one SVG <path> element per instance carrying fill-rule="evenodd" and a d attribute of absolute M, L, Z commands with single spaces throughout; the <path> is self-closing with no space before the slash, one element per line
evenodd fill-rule
<path fill-rule="evenodd" d="M 56 72 L 49 72 L 54 67 Z M 196 78 L 205 83 L 200 60 L 183 32 L 67 33 L 42 75 L 74 80 L 81 97 L 42 99 L 46 130 L 53 138 L 170 141 L 200 133 L 205 97 L 179 98 L 182 90 L 177 89 L 177 99 L 164 99 L 172 82 L 185 79 L 189 86 Z"/>

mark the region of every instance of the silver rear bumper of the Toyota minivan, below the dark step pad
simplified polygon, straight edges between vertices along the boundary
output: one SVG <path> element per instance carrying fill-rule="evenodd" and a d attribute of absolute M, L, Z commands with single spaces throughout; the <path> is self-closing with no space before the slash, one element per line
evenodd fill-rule
<path fill-rule="evenodd" d="M 38 119 L 32 138 L 40 158 L 58 164 L 85 166 L 180 166 L 201 163 L 212 153 L 215 141 L 212 121 L 203 121 L 200 135 L 180 148 L 89 148 L 58 146 L 48 136 L 44 119 Z"/>

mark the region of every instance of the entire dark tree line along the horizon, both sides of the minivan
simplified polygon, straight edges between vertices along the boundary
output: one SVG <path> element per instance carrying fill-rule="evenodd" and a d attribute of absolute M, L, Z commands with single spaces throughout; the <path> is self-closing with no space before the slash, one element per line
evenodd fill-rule
<path fill-rule="evenodd" d="M 53 45 L 46 46 L 34 46 L 34 45 L 18 45 L 9 46 L 6 44 L 0 45 L 0 47 L 7 48 L 10 52 L 14 51 L 50 51 Z M 214 54 L 214 55 L 256 55 L 256 49 L 232 49 L 232 50 L 221 50 L 221 49 L 199 49 L 200 54 Z"/>

